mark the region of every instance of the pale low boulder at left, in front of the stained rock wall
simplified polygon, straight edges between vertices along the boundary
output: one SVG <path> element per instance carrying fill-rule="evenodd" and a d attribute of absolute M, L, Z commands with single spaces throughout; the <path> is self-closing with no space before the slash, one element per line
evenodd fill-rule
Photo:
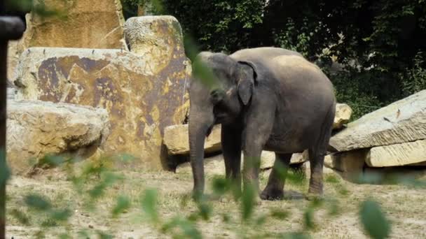
<path fill-rule="evenodd" d="M 7 159 L 14 173 L 31 159 L 101 145 L 109 136 L 107 110 L 45 101 L 9 101 Z"/>

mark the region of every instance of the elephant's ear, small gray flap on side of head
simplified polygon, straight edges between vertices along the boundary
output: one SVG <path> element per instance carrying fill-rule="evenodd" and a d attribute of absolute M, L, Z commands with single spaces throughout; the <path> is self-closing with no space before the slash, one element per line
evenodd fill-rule
<path fill-rule="evenodd" d="M 242 103 L 247 106 L 250 99 L 252 99 L 254 81 L 256 80 L 257 73 L 256 67 L 249 61 L 238 61 L 241 66 L 241 73 L 238 78 L 238 96 Z"/>

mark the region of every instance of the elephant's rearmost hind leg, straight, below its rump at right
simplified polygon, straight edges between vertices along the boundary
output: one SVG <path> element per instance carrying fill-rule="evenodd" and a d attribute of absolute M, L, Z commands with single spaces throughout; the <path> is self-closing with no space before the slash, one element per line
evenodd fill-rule
<path fill-rule="evenodd" d="M 324 157 L 327 154 L 327 146 L 331 137 L 331 129 L 334 122 L 335 106 L 331 106 L 326 119 L 322 124 L 320 136 L 313 147 L 309 149 L 310 180 L 308 194 L 320 196 L 323 193 L 322 168 Z"/>

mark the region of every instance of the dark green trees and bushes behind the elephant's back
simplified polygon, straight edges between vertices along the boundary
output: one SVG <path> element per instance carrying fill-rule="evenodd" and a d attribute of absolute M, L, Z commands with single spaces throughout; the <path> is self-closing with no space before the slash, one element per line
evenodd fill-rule
<path fill-rule="evenodd" d="M 426 1 L 160 2 L 202 50 L 273 45 L 301 52 L 329 75 L 352 119 L 425 89 L 418 52 L 426 50 Z"/>

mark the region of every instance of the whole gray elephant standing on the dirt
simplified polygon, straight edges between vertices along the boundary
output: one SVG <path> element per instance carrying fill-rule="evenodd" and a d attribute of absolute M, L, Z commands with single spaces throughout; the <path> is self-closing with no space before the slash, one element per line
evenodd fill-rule
<path fill-rule="evenodd" d="M 219 80 L 209 89 L 195 74 L 189 87 L 189 142 L 193 193 L 204 191 L 204 141 L 221 124 L 226 177 L 241 187 L 240 157 L 244 152 L 244 185 L 259 189 L 262 150 L 275 152 L 275 165 L 260 197 L 284 196 L 284 180 L 275 167 L 288 168 L 291 154 L 309 150 L 309 194 L 322 194 L 322 167 L 331 135 L 336 100 L 324 73 L 297 52 L 253 48 L 232 55 L 201 52 L 201 61 Z M 194 68 L 194 72 L 195 72 Z"/>

